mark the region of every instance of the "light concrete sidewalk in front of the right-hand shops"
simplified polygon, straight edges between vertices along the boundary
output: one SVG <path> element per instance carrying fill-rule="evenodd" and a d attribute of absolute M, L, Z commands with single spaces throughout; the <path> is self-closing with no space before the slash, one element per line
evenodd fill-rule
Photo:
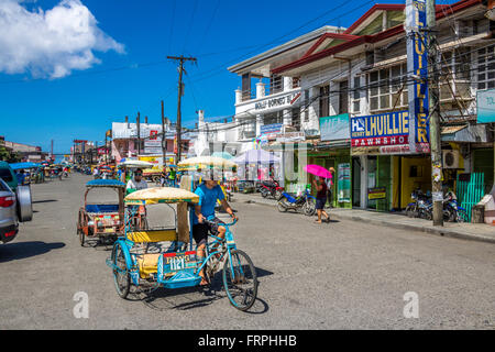
<path fill-rule="evenodd" d="M 276 207 L 273 198 L 265 199 L 260 194 L 233 194 L 233 200 L 238 202 L 254 202 L 264 206 Z M 274 209 L 277 211 L 276 209 Z M 446 222 L 443 227 L 433 227 L 431 221 L 411 219 L 399 213 L 386 213 L 361 209 L 330 209 L 330 218 L 341 220 L 365 221 L 369 223 L 422 231 L 450 238 L 495 243 L 495 227 L 485 223 L 455 223 Z"/>

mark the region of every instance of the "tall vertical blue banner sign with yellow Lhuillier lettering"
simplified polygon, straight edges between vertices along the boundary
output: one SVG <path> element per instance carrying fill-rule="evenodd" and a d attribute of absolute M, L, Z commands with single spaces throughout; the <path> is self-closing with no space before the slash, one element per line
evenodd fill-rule
<path fill-rule="evenodd" d="M 409 98 L 409 151 L 429 143 L 428 51 L 425 0 L 406 1 L 407 78 Z"/>

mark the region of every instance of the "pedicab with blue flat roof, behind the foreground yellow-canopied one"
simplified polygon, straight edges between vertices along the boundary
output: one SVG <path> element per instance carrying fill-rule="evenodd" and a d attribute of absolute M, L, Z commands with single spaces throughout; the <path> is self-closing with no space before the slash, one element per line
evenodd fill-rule
<path fill-rule="evenodd" d="M 77 218 L 77 234 L 80 245 L 88 239 L 99 242 L 114 242 L 123 233 L 124 228 L 124 191 L 125 184 L 117 179 L 92 179 L 86 184 L 85 205 L 79 209 Z M 117 191 L 117 202 L 88 204 L 91 190 L 101 191 L 102 188 Z"/>

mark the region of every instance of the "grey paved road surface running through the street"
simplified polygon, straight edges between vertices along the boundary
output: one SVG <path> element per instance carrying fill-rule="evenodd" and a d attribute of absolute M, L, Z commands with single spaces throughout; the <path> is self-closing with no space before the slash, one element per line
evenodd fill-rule
<path fill-rule="evenodd" d="M 123 300 L 105 260 L 81 248 L 76 217 L 88 176 L 34 185 L 34 220 L 0 245 L 0 329 L 494 329 L 495 245 L 314 219 L 233 202 L 239 248 L 260 275 L 248 314 L 221 286 Z M 99 195 L 100 196 L 100 195 Z M 76 293 L 89 318 L 75 318 Z M 416 300 L 419 318 L 405 318 Z M 413 300 L 409 300 L 413 297 Z M 415 312 L 416 310 L 409 310 Z"/>

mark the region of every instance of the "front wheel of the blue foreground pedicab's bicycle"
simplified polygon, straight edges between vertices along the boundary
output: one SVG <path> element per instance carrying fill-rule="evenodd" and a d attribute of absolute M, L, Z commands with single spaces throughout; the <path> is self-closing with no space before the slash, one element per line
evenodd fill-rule
<path fill-rule="evenodd" d="M 244 252 L 235 250 L 223 265 L 223 287 L 232 306 L 239 310 L 250 309 L 257 296 L 256 268 Z"/>

